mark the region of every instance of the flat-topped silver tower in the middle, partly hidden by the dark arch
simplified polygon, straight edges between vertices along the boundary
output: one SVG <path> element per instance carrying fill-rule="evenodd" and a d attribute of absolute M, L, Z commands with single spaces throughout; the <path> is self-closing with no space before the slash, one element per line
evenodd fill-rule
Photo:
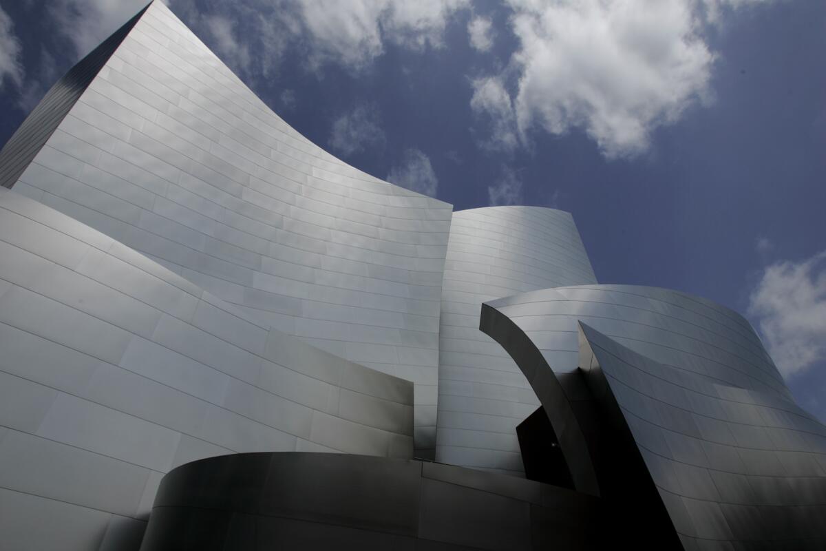
<path fill-rule="evenodd" d="M 482 302 L 596 283 L 572 216 L 543 207 L 453 213 L 439 324 L 436 460 L 523 473 L 516 425 L 537 406 L 525 376 L 479 330 Z"/>

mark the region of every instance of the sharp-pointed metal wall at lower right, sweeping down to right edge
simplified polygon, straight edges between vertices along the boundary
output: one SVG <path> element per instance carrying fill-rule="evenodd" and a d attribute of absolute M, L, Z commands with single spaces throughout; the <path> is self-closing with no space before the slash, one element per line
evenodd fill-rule
<path fill-rule="evenodd" d="M 826 548 L 826 426 L 774 392 L 670 368 L 586 325 L 582 340 L 591 387 L 624 419 L 684 549 Z"/>

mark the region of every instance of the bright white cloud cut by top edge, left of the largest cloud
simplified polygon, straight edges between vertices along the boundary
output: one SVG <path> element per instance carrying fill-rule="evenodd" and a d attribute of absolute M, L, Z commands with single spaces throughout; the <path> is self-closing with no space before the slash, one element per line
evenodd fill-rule
<path fill-rule="evenodd" d="M 439 48 L 449 17 L 468 0 L 299 0 L 315 62 L 339 61 L 363 69 L 384 52 L 385 41 L 412 49 Z"/>

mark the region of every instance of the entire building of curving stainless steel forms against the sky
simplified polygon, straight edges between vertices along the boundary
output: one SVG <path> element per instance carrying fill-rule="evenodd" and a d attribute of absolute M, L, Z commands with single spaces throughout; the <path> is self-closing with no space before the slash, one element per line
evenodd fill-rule
<path fill-rule="evenodd" d="M 826 428 L 747 321 L 596 285 L 566 212 L 453 213 L 344 164 L 162 2 L 55 85 L 0 183 L 2 549 L 138 549 L 153 501 L 199 488 L 263 500 L 222 516 L 225 537 L 263 515 L 320 538 L 306 549 L 826 547 Z M 561 449 L 565 488 L 520 478 L 515 426 L 540 406 L 550 425 L 520 438 Z M 389 508 L 297 484 L 273 509 L 242 455 L 156 500 L 170 469 L 246 452 Z M 420 509 L 382 524 L 401 496 Z M 155 535 L 198 530 L 191 505 Z"/>

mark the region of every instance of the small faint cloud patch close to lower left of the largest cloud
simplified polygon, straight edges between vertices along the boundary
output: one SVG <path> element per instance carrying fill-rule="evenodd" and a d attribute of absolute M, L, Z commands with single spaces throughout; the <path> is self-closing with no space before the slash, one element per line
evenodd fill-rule
<path fill-rule="evenodd" d="M 483 77 L 471 81 L 470 107 L 489 123 L 479 145 L 486 150 L 514 150 L 519 145 L 518 129 L 510 94 L 501 78 Z"/>

